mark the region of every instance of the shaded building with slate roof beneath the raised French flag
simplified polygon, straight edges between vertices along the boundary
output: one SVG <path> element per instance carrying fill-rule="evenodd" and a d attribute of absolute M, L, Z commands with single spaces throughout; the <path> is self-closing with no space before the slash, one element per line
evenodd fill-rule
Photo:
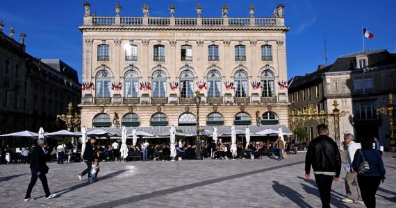
<path fill-rule="evenodd" d="M 302 114 L 308 103 L 317 111 L 331 112 L 333 102 L 337 101 L 341 139 L 345 132 L 351 132 L 358 141 L 362 137 L 378 137 L 387 147 L 388 117 L 377 115 L 377 109 L 388 105 L 388 94 L 396 93 L 395 77 L 395 53 L 377 50 L 342 55 L 327 67 L 320 66 L 313 73 L 292 78 L 290 112 Z M 316 137 L 317 124 L 312 119 L 304 123 L 308 140 Z"/>

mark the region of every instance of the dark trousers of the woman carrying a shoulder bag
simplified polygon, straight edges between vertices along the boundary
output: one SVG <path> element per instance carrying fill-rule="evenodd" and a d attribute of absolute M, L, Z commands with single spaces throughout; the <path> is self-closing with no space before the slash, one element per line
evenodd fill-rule
<path fill-rule="evenodd" d="M 375 207 L 375 193 L 381 183 L 380 176 L 358 175 L 359 188 L 366 207 Z"/>

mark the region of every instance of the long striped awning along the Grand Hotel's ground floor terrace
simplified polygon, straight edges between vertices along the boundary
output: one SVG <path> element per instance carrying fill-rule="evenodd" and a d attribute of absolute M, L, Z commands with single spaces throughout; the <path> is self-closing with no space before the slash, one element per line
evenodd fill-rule
<path fill-rule="evenodd" d="M 259 132 L 266 129 L 272 129 L 277 131 L 279 130 L 279 128 L 282 128 L 283 135 L 292 135 L 292 131 L 288 127 L 286 127 L 286 125 L 236 125 L 235 126 L 236 130 L 243 130 L 243 131 L 245 131 L 246 127 L 250 128 L 251 137 L 263 136 L 263 135 L 255 135 L 254 134 L 255 132 Z M 126 135 L 131 134 L 133 128 L 135 128 L 136 131 L 144 131 L 152 135 L 156 135 L 156 137 L 157 135 L 163 134 L 165 132 L 169 132 L 170 130 L 170 126 L 127 127 Z M 183 134 L 185 134 L 186 137 L 195 137 L 197 135 L 197 127 L 194 125 L 176 126 L 175 128 L 176 130 L 182 130 Z M 217 128 L 217 133 L 220 135 L 231 131 L 231 125 L 201 126 L 201 129 L 210 130 L 212 132 L 213 132 L 213 128 Z M 92 131 L 95 129 L 102 129 L 108 132 L 112 132 L 116 135 L 121 135 L 121 130 L 122 130 L 122 128 L 102 127 L 102 128 L 87 128 L 87 131 Z M 145 138 L 156 138 L 156 137 L 145 137 Z M 118 137 L 114 137 L 114 138 L 118 138 Z"/>

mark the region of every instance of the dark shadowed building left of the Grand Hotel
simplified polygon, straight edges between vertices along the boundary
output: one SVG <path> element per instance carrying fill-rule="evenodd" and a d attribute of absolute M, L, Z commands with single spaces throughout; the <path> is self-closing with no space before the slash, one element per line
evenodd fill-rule
<path fill-rule="evenodd" d="M 67 112 L 70 102 L 81 103 L 77 71 L 61 60 L 29 55 L 26 35 L 17 42 L 14 33 L 4 34 L 0 21 L 0 134 L 57 130 L 56 115 Z"/>

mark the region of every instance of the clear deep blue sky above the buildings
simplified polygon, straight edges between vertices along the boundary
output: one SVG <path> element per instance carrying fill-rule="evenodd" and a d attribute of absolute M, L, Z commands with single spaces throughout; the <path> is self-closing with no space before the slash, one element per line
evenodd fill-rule
<path fill-rule="evenodd" d="M 81 80 L 82 35 L 78 26 L 83 22 L 81 0 L 1 0 L 0 19 L 8 34 L 14 26 L 15 39 L 26 33 L 26 50 L 35 57 L 59 58 L 79 71 Z M 98 16 L 115 15 L 117 1 L 91 0 L 92 12 Z M 256 17 L 270 17 L 283 3 L 286 25 L 288 78 L 310 73 L 324 64 L 324 31 L 331 64 L 340 55 L 363 50 L 362 26 L 374 34 L 365 39 L 366 49 L 396 48 L 395 0 L 123 0 L 122 16 L 142 16 L 141 7 L 147 2 L 151 17 L 169 17 L 167 9 L 176 6 L 176 17 L 195 17 L 195 6 L 203 7 L 203 17 L 220 17 L 222 5 L 228 3 L 229 17 L 248 17 L 249 5 L 256 7 Z"/>

